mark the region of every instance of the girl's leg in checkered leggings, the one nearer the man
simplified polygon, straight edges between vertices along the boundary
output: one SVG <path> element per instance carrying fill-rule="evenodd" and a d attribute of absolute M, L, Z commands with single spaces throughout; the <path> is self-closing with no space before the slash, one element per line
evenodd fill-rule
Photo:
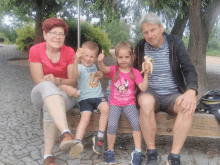
<path fill-rule="evenodd" d="M 141 129 L 137 108 L 135 105 L 128 105 L 123 108 L 123 111 L 130 121 L 133 130 L 135 150 L 141 152 Z"/>

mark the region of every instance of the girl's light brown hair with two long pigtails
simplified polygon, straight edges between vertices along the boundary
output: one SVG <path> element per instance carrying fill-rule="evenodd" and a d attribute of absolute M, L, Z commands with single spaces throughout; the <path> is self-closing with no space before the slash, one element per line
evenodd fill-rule
<path fill-rule="evenodd" d="M 132 62 L 131 63 L 131 68 L 132 68 L 133 67 L 133 62 L 135 60 L 135 54 L 134 54 L 132 45 L 129 42 L 125 42 L 125 41 L 119 42 L 115 46 L 115 56 L 116 57 L 118 56 L 118 53 L 119 53 L 120 49 L 127 49 L 128 50 L 129 54 L 131 55 L 131 62 Z M 134 73 L 133 73 L 132 69 L 130 71 L 130 77 L 134 81 Z M 116 65 L 116 74 L 115 74 L 115 77 L 114 77 L 114 81 L 118 80 L 118 78 L 119 78 L 119 65 L 117 63 L 117 65 Z"/>

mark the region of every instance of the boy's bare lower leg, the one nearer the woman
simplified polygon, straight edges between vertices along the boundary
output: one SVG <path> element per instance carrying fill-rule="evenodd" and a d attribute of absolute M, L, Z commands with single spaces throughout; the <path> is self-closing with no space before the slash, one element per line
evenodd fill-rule
<path fill-rule="evenodd" d="M 89 125 L 92 113 L 90 111 L 83 111 L 81 113 L 81 119 L 76 129 L 76 139 L 82 140 L 86 127 Z"/>

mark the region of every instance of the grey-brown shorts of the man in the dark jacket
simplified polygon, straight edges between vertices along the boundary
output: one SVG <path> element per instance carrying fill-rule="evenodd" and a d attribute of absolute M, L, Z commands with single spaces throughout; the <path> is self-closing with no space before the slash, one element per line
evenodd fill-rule
<path fill-rule="evenodd" d="M 154 109 L 155 113 L 159 111 L 164 111 L 171 115 L 176 115 L 173 108 L 174 108 L 174 104 L 176 102 L 177 97 L 182 95 L 181 93 L 177 92 L 177 93 L 169 94 L 169 95 L 158 95 L 152 91 L 147 91 L 147 92 L 141 92 L 138 95 L 138 99 L 143 94 L 150 94 L 151 96 L 153 96 L 155 100 L 155 109 Z"/>

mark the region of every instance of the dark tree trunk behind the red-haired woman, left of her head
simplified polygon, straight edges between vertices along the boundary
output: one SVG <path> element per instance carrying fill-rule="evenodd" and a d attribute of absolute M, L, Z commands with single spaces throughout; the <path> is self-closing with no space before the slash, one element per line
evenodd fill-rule
<path fill-rule="evenodd" d="M 41 14 L 41 11 L 36 11 L 36 17 L 35 17 L 35 37 L 34 37 L 34 44 L 38 44 L 44 41 L 43 38 L 43 30 L 42 30 L 42 21 L 43 16 Z"/>

